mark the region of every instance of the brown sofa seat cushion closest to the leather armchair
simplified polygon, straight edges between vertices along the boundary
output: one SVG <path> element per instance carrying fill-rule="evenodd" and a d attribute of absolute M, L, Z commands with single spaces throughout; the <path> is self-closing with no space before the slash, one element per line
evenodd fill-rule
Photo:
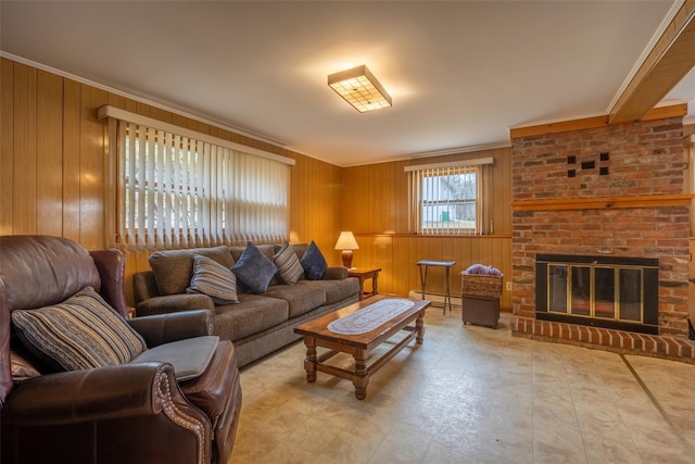
<path fill-rule="evenodd" d="M 214 335 L 231 341 L 262 333 L 283 323 L 289 317 L 285 300 L 266 296 L 239 293 L 239 304 L 215 308 Z"/>

